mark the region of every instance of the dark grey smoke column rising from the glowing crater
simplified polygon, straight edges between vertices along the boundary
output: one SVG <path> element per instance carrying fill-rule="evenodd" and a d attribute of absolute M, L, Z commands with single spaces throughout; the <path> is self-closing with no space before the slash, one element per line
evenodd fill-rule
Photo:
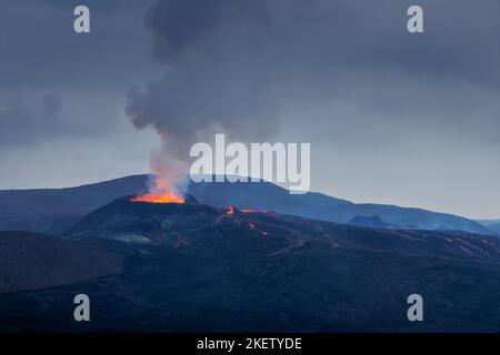
<path fill-rule="evenodd" d="M 126 115 L 162 140 L 154 173 L 186 170 L 193 143 L 214 133 L 251 141 L 277 133 L 263 1 L 158 1 L 146 17 L 161 79 L 128 94 Z M 171 180 L 172 178 L 167 178 Z"/>

